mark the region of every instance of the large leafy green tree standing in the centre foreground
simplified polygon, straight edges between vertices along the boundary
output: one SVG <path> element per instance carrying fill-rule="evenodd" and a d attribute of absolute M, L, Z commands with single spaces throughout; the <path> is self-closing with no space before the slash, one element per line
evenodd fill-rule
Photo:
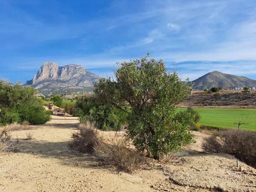
<path fill-rule="evenodd" d="M 101 79 L 94 87 L 99 101 L 129 113 L 128 136 L 137 150 L 159 160 L 192 141 L 189 125 L 177 117 L 176 106 L 190 87 L 162 60 L 142 59 L 118 64 L 115 80 Z"/>

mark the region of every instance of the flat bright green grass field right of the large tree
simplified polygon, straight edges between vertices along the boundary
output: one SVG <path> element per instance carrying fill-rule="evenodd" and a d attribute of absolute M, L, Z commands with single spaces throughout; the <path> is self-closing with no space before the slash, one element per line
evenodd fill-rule
<path fill-rule="evenodd" d="M 186 108 L 180 108 L 185 110 Z M 242 130 L 256 131 L 256 109 L 194 108 L 201 115 L 200 125 L 217 128 L 237 128 L 234 123 L 244 117 L 250 119 L 249 125 L 240 125 Z"/>

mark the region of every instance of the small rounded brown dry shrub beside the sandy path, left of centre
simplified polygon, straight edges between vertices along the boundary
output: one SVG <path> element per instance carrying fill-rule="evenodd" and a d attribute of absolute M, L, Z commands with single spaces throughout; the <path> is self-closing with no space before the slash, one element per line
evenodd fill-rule
<path fill-rule="evenodd" d="M 79 131 L 72 134 L 72 148 L 80 152 L 93 152 L 93 145 L 99 142 L 97 130 L 88 124 L 80 124 Z"/>

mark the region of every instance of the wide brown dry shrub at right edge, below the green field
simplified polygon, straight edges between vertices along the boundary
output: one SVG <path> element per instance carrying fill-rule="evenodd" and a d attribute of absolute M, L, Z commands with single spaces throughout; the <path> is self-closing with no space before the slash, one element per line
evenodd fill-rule
<path fill-rule="evenodd" d="M 241 161 L 256 166 L 256 132 L 242 130 L 224 130 L 204 140 L 205 151 L 227 153 Z"/>

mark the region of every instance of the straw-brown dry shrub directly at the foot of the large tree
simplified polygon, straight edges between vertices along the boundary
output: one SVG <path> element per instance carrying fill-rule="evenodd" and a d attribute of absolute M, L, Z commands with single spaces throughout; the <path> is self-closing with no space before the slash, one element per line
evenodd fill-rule
<path fill-rule="evenodd" d="M 108 143 L 95 143 L 94 151 L 105 164 L 115 166 L 119 171 L 133 172 L 138 169 L 142 158 L 135 151 L 128 149 L 125 137 L 114 137 Z"/>

